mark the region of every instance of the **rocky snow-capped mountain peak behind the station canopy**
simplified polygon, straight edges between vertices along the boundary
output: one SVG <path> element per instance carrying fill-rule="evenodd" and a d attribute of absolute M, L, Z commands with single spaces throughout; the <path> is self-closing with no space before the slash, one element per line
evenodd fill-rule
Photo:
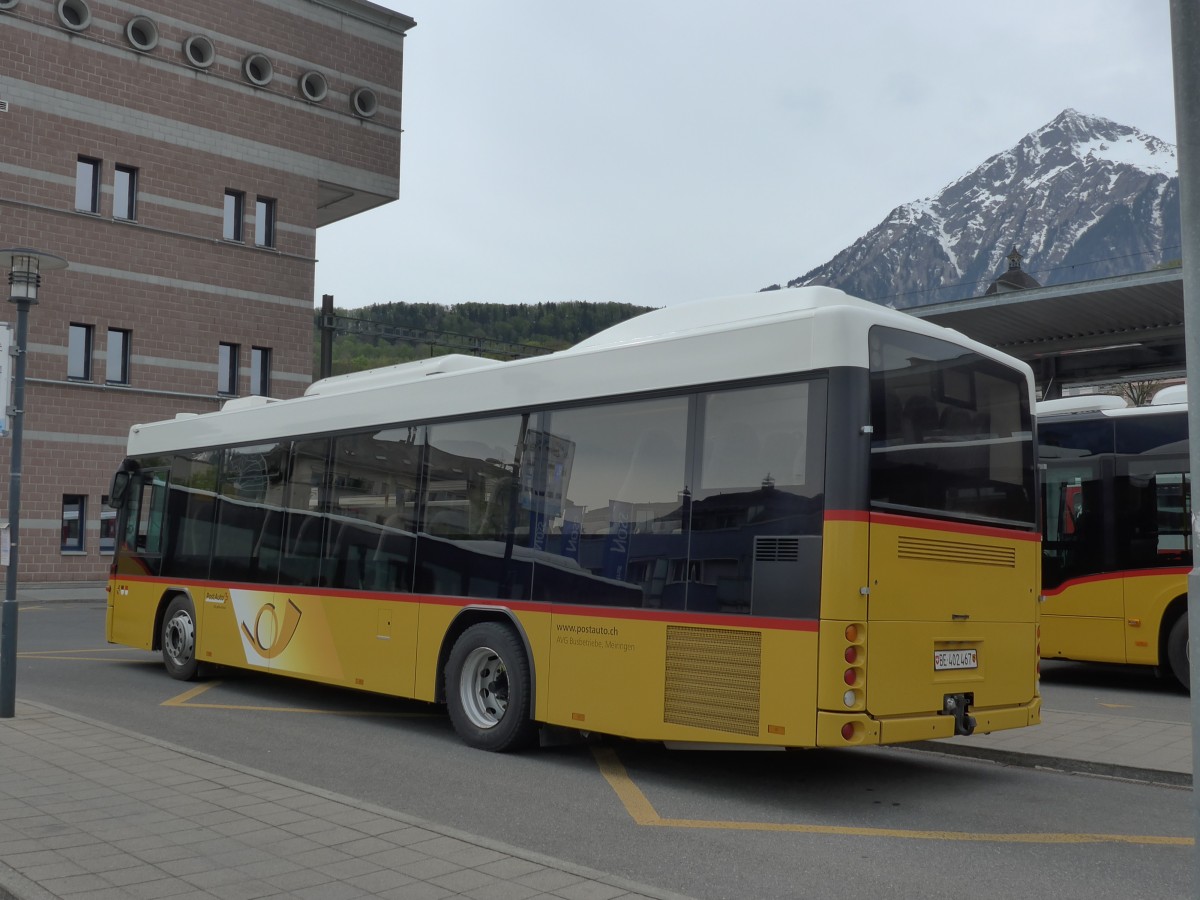
<path fill-rule="evenodd" d="M 1067 109 L 787 286 L 898 308 L 958 300 L 984 293 L 1014 247 L 1042 284 L 1146 271 L 1181 254 L 1176 173 L 1174 144 Z"/>

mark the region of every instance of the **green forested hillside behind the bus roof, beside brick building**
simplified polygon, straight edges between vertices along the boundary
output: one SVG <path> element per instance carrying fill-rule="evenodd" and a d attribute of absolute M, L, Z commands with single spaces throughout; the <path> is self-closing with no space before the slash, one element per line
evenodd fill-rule
<path fill-rule="evenodd" d="M 408 362 L 443 353 L 469 353 L 472 338 L 482 355 L 509 359 L 538 349 L 562 350 L 618 322 L 649 312 L 632 304 L 376 304 L 335 310 L 334 374 Z M 319 313 L 314 325 L 319 324 Z M 419 332 L 413 335 L 410 332 Z M 402 340 L 395 335 L 410 340 Z M 521 347 L 502 352 L 488 342 Z M 520 350 L 520 354 L 515 352 Z M 313 329 L 313 378 L 320 372 L 320 330 Z"/>

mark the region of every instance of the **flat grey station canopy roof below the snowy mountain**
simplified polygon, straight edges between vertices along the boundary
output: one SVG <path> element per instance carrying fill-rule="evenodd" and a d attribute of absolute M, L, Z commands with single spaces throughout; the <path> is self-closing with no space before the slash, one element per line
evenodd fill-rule
<path fill-rule="evenodd" d="M 1039 384 L 1182 376 L 1183 270 L 906 310 L 1028 362 Z"/>

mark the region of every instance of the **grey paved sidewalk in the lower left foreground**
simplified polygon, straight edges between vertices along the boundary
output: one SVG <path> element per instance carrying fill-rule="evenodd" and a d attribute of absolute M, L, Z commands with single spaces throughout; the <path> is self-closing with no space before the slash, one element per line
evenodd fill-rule
<path fill-rule="evenodd" d="M 36 703 L 0 719 L 0 900 L 686 900 Z"/>

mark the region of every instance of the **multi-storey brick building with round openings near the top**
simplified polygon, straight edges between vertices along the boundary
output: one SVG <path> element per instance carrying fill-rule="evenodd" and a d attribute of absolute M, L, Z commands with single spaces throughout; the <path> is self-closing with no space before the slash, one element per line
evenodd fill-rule
<path fill-rule="evenodd" d="M 311 382 L 317 228 L 398 196 L 414 24 L 365 0 L 0 0 L 0 247 L 70 262 L 29 316 L 23 583 L 104 577 L 132 424 Z M 0 439 L 2 517 L 8 463 Z"/>

